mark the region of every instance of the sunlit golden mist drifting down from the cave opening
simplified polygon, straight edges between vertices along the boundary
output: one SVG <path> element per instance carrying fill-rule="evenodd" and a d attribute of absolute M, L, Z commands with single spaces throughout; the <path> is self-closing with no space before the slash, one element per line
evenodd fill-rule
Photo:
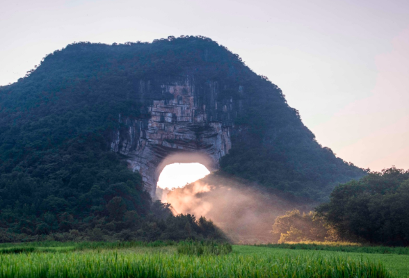
<path fill-rule="evenodd" d="M 190 213 L 212 220 L 233 243 L 276 242 L 270 233 L 275 218 L 298 208 L 310 211 L 306 199 L 284 199 L 278 193 L 236 178 L 213 173 L 184 188 L 161 190 L 162 202 L 171 204 L 173 213 Z"/>

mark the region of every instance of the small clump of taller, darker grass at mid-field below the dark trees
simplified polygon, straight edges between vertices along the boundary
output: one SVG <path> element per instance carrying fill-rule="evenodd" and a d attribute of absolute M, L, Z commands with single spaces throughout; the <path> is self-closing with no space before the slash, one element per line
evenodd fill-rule
<path fill-rule="evenodd" d="M 225 255 L 232 252 L 230 243 L 219 243 L 217 241 L 181 241 L 177 245 L 177 253 L 184 255 Z"/>

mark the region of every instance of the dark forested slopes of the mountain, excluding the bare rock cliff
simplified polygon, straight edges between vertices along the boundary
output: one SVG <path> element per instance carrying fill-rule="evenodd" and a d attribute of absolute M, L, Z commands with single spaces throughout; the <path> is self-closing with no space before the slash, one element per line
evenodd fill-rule
<path fill-rule="evenodd" d="M 102 217 L 109 215 L 106 204 L 113 197 L 147 215 L 150 197 L 141 177 L 111 152 L 109 131 L 120 127 L 118 114 L 150 117 L 147 106 L 168 97 L 155 91 L 140 95 L 141 81 L 166 83 L 186 74 L 225 84 L 217 101 L 240 104 L 234 125 L 246 132 L 232 134 L 222 172 L 318 200 L 338 182 L 365 174 L 321 147 L 276 85 L 209 38 L 79 42 L 0 87 L 2 217 L 9 213 L 9 222 L 15 215 L 34 219 L 45 213 Z"/>

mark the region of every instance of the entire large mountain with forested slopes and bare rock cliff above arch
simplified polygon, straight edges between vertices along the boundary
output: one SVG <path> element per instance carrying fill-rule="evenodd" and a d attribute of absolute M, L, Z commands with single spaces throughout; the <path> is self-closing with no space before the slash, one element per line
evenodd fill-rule
<path fill-rule="evenodd" d="M 115 197 L 149 215 L 177 159 L 318 201 L 365 174 L 316 142 L 277 85 L 201 36 L 70 44 L 0 88 L 3 228 L 90 222 Z"/>

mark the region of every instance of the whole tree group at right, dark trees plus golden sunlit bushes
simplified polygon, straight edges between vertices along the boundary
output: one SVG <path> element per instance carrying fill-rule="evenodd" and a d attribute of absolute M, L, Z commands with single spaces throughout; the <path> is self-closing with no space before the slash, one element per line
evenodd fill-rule
<path fill-rule="evenodd" d="M 409 245 L 409 170 L 390 167 L 337 186 L 314 212 L 289 211 L 273 224 L 278 243 L 346 240 Z"/>

